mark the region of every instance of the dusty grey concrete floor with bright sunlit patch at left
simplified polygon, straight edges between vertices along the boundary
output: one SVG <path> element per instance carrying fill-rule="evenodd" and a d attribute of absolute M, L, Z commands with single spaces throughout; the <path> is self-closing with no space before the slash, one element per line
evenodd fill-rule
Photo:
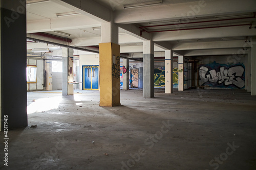
<path fill-rule="evenodd" d="M 9 131 L 0 169 L 256 169 L 256 96 L 245 90 L 121 90 L 113 108 L 75 92 L 28 92 L 29 127 Z"/>

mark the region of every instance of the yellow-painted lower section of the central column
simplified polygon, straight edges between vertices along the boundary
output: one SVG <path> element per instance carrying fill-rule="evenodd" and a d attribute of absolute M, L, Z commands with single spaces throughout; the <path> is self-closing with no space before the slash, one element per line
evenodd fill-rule
<path fill-rule="evenodd" d="M 99 44 L 99 106 L 120 105 L 120 45 Z"/>

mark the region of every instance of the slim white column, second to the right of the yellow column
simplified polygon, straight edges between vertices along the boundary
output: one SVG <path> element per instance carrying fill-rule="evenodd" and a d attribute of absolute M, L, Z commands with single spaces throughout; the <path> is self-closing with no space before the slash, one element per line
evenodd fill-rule
<path fill-rule="evenodd" d="M 165 50 L 165 93 L 173 93 L 173 51 Z"/>

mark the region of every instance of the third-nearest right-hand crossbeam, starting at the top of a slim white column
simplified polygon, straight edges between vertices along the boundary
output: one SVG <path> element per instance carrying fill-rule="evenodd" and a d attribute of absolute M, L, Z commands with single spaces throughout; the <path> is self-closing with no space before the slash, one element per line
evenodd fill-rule
<path fill-rule="evenodd" d="M 250 47 L 250 44 L 245 40 L 231 40 L 231 41 L 210 41 L 210 42 L 186 42 L 176 43 L 173 45 L 173 50 L 208 50 L 221 48 L 245 48 Z"/>

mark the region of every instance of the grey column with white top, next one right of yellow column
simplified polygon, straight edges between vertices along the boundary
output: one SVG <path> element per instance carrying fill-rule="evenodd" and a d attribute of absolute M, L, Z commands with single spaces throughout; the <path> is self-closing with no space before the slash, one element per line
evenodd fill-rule
<path fill-rule="evenodd" d="M 143 96 L 154 98 L 154 42 L 143 42 Z"/>

